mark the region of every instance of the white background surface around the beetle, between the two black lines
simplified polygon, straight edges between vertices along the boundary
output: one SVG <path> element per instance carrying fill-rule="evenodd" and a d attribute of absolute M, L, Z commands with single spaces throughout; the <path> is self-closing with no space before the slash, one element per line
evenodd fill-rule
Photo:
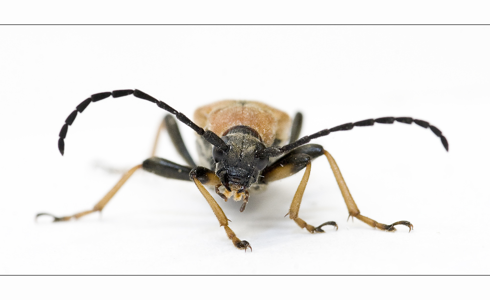
<path fill-rule="evenodd" d="M 488 274 L 489 28 L 484 27 L 2 27 L 1 274 Z M 303 134 L 381 116 L 441 129 L 376 124 L 319 138 L 364 215 L 409 220 L 373 230 L 347 209 L 317 159 L 300 217 L 339 230 L 299 229 L 288 211 L 301 175 L 223 203 L 253 252 L 236 250 L 192 183 L 137 172 L 101 217 L 34 222 L 38 212 L 91 208 L 147 158 L 165 114 L 140 89 L 192 116 L 211 101 L 264 101 L 304 114 Z M 194 134 L 180 126 L 195 155 Z M 162 136 L 159 154 L 182 162 Z M 8 258 L 8 259 L 7 259 Z"/>

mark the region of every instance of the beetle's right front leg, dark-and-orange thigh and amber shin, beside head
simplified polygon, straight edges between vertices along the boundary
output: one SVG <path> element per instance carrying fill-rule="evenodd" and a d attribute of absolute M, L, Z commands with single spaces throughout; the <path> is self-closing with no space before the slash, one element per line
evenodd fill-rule
<path fill-rule="evenodd" d="M 289 217 L 296 222 L 296 224 L 301 228 L 306 228 L 307 231 L 311 233 L 324 232 L 321 227 L 325 225 L 332 225 L 338 228 L 337 224 L 333 221 L 325 222 L 318 227 L 307 224 L 303 219 L 298 217 L 299 207 L 301 206 L 301 199 L 303 198 L 303 193 L 308 183 L 311 170 L 311 161 L 323 153 L 321 152 L 323 148 L 320 145 L 308 144 L 294 149 L 293 151 L 286 154 L 284 157 L 280 158 L 277 162 L 274 162 L 262 173 L 262 183 L 269 183 L 279 179 L 289 177 L 302 169 L 305 169 L 303 178 L 299 183 L 296 193 L 293 197 L 293 202 L 289 209 Z M 286 214 L 286 215 L 288 215 Z"/>

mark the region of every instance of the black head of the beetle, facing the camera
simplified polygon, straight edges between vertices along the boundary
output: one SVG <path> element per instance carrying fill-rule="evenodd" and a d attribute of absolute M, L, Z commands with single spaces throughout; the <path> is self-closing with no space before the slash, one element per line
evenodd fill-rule
<path fill-rule="evenodd" d="M 260 171 L 269 163 L 269 158 L 258 158 L 256 153 L 266 148 L 258 133 L 247 126 L 231 128 L 223 141 L 228 151 L 213 147 L 216 175 L 228 190 L 242 193 L 257 182 Z"/>

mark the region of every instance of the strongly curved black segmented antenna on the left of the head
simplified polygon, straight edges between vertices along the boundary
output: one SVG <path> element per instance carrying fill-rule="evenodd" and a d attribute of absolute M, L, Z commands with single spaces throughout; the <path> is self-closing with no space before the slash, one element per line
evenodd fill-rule
<path fill-rule="evenodd" d="M 155 103 L 159 108 L 166 110 L 167 112 L 171 113 L 172 115 L 175 115 L 175 117 L 184 123 L 185 125 L 189 126 L 194 130 L 199 136 L 202 136 L 205 140 L 210 142 L 211 144 L 215 145 L 216 147 L 220 148 L 223 151 L 228 151 L 228 145 L 214 132 L 209 131 L 209 130 L 204 130 L 201 127 L 197 126 L 196 123 L 191 121 L 187 116 L 177 112 L 174 110 L 172 107 L 170 107 L 167 103 L 159 101 L 152 96 L 148 95 L 147 93 L 141 92 L 140 90 L 118 90 L 118 91 L 112 91 L 112 92 L 99 92 L 97 94 L 93 94 L 89 98 L 85 99 L 82 103 L 78 104 L 76 109 L 66 118 L 65 120 L 65 125 L 61 127 L 61 131 L 59 134 L 59 139 L 58 139 L 58 149 L 60 150 L 61 155 L 64 154 L 65 152 L 65 141 L 64 139 L 66 138 L 66 133 L 68 131 L 68 126 L 73 124 L 73 121 L 75 120 L 75 117 L 78 113 L 82 113 L 87 106 L 90 104 L 90 102 L 97 102 L 99 100 L 108 98 L 109 96 L 112 96 L 113 98 L 119 98 L 123 96 L 127 96 L 133 94 L 135 97 L 144 99 L 150 102 Z"/>

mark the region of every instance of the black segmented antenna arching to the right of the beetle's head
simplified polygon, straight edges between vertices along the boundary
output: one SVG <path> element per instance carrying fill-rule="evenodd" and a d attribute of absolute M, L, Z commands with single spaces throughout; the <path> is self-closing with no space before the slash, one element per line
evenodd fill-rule
<path fill-rule="evenodd" d="M 258 151 L 255 156 L 259 158 L 265 158 L 265 157 L 275 157 L 279 156 L 281 154 L 284 154 L 286 152 L 289 152 L 293 150 L 294 148 L 297 148 L 301 145 L 307 144 L 310 142 L 310 140 L 314 138 L 319 138 L 319 137 L 324 137 L 329 135 L 332 132 L 335 131 L 345 131 L 345 130 L 351 130 L 355 126 L 372 126 L 374 123 L 381 123 L 381 124 L 393 124 L 394 121 L 400 122 L 400 123 L 405 123 L 405 124 L 412 124 L 414 122 L 418 126 L 421 126 L 423 128 L 430 128 L 430 130 L 439 138 L 441 138 L 442 145 L 446 149 L 446 151 L 449 151 L 449 144 L 447 143 L 447 139 L 442 135 L 441 130 L 439 130 L 436 126 L 429 124 L 427 121 L 419 120 L 419 119 L 414 119 L 411 117 L 407 116 L 402 116 L 402 117 L 392 117 L 392 116 L 385 116 L 377 119 L 367 119 L 355 123 L 345 123 L 343 125 L 335 126 L 330 129 L 323 129 L 317 133 L 314 133 L 310 136 L 302 137 L 290 144 L 287 144 L 282 147 L 269 147 L 266 149 L 263 149 L 261 151 Z"/>

